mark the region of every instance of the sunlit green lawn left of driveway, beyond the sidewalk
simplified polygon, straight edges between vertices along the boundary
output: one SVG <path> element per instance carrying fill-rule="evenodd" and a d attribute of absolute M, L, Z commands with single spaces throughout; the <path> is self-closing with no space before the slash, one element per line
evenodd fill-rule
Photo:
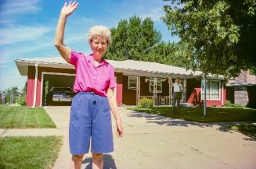
<path fill-rule="evenodd" d="M 42 107 L 0 106 L 0 128 L 56 128 Z"/>

